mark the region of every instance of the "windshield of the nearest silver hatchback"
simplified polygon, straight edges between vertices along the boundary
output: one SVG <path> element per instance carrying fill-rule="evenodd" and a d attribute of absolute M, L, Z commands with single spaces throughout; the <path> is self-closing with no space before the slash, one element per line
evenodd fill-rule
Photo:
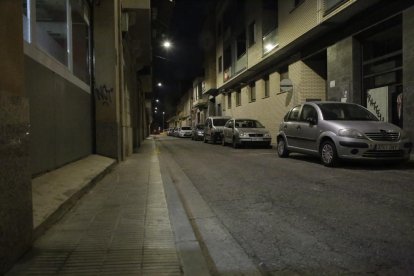
<path fill-rule="evenodd" d="M 367 109 L 356 104 L 320 103 L 324 120 L 341 121 L 378 121 L 378 118 Z"/>

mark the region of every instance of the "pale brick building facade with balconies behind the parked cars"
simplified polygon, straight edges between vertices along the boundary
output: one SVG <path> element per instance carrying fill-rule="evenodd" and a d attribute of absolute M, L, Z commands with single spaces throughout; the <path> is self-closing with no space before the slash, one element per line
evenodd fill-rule
<path fill-rule="evenodd" d="M 208 113 L 261 121 L 275 143 L 293 106 L 354 102 L 414 139 L 412 1 L 220 1 Z M 237 16 L 235 16 L 237 14 Z M 211 60 L 209 56 L 206 58 Z"/>

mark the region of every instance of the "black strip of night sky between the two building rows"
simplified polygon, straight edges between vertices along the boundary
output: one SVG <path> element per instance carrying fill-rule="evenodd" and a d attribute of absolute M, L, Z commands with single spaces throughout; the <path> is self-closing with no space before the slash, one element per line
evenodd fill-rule
<path fill-rule="evenodd" d="M 158 109 L 166 112 L 165 119 L 175 115 L 180 96 L 192 86 L 194 78 L 202 75 L 206 45 L 202 27 L 211 1 L 175 0 L 170 27 L 165 34 L 173 46 L 166 50 L 160 47 L 161 42 L 154 42 L 154 81 L 163 84 L 155 86 L 154 96 L 160 100 Z"/>

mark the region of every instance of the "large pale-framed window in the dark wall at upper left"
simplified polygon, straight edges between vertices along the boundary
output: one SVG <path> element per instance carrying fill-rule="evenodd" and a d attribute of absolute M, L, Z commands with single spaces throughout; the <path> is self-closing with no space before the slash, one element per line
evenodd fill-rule
<path fill-rule="evenodd" d="M 22 3 L 24 40 L 89 84 L 90 11 L 86 0 L 22 0 Z"/>

